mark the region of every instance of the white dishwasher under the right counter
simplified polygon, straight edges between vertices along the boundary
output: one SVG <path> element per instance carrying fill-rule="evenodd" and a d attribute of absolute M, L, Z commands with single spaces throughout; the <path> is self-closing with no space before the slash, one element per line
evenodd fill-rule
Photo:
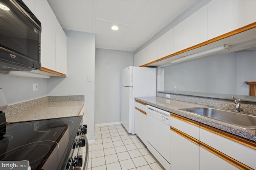
<path fill-rule="evenodd" d="M 170 113 L 150 105 L 146 108 L 148 150 L 170 170 Z"/>

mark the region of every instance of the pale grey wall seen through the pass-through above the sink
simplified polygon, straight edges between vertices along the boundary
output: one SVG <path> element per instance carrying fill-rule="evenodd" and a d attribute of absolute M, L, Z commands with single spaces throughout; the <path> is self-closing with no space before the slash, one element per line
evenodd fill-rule
<path fill-rule="evenodd" d="M 164 90 L 248 95 L 256 80 L 256 52 L 227 53 L 164 69 Z M 176 86 L 176 89 L 174 89 Z"/>

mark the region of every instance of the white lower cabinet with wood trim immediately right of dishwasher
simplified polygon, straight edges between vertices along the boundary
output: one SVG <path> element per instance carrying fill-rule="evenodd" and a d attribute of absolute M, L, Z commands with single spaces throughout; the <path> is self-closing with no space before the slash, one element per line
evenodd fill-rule
<path fill-rule="evenodd" d="M 171 113 L 171 170 L 199 169 L 199 123 Z"/>

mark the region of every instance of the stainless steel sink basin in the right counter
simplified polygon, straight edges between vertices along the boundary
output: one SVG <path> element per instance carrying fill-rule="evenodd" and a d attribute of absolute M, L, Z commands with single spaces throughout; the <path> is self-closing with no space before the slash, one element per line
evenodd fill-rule
<path fill-rule="evenodd" d="M 180 110 L 202 115 L 204 117 L 222 121 L 244 129 L 254 130 L 256 128 L 256 116 L 247 115 L 242 112 L 234 112 L 212 107 L 196 107 Z"/>

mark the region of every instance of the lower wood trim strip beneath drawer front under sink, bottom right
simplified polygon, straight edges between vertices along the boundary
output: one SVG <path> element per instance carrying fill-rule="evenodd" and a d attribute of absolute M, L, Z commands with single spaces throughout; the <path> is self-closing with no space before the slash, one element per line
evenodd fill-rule
<path fill-rule="evenodd" d="M 239 169 L 242 170 L 253 170 L 252 168 L 242 164 L 241 162 L 238 162 L 237 160 L 223 154 L 222 152 L 212 148 L 211 146 L 208 146 L 207 144 L 200 142 L 199 146 L 201 146 L 202 148 L 208 150 L 209 152 L 215 154 L 216 156 L 222 158 L 223 160 L 226 160 L 227 162 L 229 162 L 230 164 L 236 166 Z"/>

